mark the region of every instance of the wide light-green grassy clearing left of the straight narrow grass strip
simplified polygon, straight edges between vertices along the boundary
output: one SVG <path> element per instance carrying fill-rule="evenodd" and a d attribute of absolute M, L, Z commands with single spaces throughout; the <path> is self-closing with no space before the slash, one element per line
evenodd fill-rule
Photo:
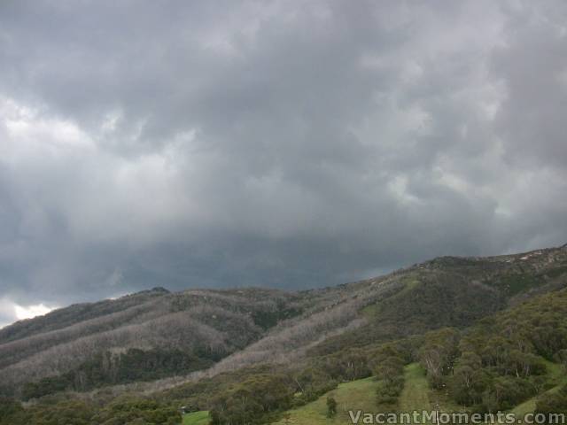
<path fill-rule="evenodd" d="M 374 378 L 360 379 L 352 383 L 341 383 L 337 389 L 328 392 L 314 402 L 290 410 L 289 418 L 277 421 L 278 425 L 334 425 L 351 423 L 349 410 L 376 411 L 376 388 Z M 337 400 L 337 416 L 327 417 L 327 397 Z"/>

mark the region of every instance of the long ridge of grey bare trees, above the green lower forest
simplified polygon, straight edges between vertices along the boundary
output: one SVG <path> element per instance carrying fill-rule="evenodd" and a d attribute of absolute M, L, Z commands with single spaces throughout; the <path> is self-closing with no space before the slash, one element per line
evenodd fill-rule
<path fill-rule="evenodd" d="M 86 365 L 101 353 L 120 362 L 135 355 L 175 357 L 181 351 L 190 356 L 179 360 L 184 366 L 157 370 L 147 385 L 144 379 L 136 383 L 171 387 L 241 367 L 305 361 L 346 345 L 465 327 L 507 305 L 563 287 L 566 271 L 567 244 L 493 257 L 439 257 L 312 290 L 169 292 L 158 287 L 70 305 L 0 330 L 0 376 L 4 392 L 17 395 L 29 383 L 72 375 L 55 387 L 93 390 L 138 379 L 120 381 L 109 375 L 82 378 L 77 385 L 77 376 L 89 375 Z M 401 326 L 402 321 L 407 325 Z"/>

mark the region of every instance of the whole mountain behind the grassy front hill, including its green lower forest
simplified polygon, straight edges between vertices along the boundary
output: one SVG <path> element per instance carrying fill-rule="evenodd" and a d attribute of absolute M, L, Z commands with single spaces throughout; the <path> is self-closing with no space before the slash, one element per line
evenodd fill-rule
<path fill-rule="evenodd" d="M 567 245 L 497 257 L 442 257 L 317 290 L 155 288 L 71 305 L 1 329 L 0 391 L 51 405 L 58 404 L 51 398 L 73 391 L 104 406 L 128 393 L 169 407 L 214 410 L 245 382 L 242 390 L 267 394 L 265 386 L 282 394 L 299 387 L 301 398 L 293 402 L 307 402 L 338 382 L 371 375 L 388 344 L 398 344 L 398 354 L 387 359 L 407 363 L 430 340 L 441 338 L 441 346 L 445 337 L 462 340 L 462 332 L 485 318 L 531 300 L 549 301 L 565 286 Z M 442 330 L 434 334 L 445 328 L 455 329 L 450 337 Z M 258 418 L 282 411 L 280 402 L 270 403 L 260 403 Z M 0 418 L 1 412 L 0 406 Z"/>

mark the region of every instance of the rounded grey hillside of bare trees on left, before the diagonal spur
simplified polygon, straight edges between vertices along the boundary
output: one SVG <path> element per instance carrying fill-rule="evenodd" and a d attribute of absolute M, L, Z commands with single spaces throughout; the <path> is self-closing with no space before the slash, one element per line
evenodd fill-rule
<path fill-rule="evenodd" d="M 156 362 L 155 373 L 146 378 L 209 367 L 258 340 L 277 321 L 298 314 L 299 308 L 292 294 L 255 289 L 151 290 L 72 305 L 3 329 L 4 391 L 47 377 L 55 382 L 43 382 L 40 392 L 50 393 L 50 387 L 89 390 L 136 381 L 141 376 L 128 376 L 122 369 Z M 126 360 L 136 364 L 125 365 Z M 65 374 L 71 375 L 58 382 L 56 377 Z"/>

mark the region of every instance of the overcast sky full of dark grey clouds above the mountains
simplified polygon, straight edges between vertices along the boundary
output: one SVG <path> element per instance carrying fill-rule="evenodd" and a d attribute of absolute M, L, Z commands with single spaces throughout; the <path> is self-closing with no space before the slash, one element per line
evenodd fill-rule
<path fill-rule="evenodd" d="M 0 2 L 0 326 L 567 243 L 567 3 Z"/>

